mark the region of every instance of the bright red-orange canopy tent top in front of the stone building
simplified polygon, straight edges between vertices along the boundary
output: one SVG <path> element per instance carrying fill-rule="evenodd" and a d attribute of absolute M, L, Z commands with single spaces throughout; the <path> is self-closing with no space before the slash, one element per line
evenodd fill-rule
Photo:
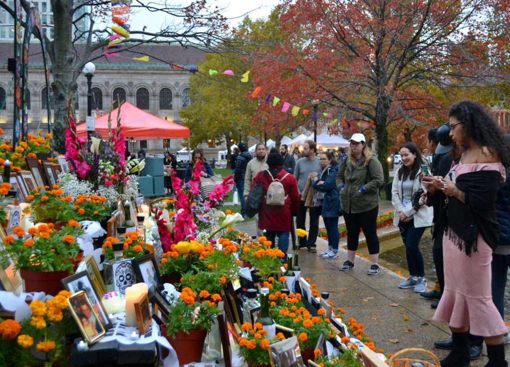
<path fill-rule="evenodd" d="M 118 108 L 112 111 L 112 129 L 117 127 Z M 129 102 L 122 104 L 120 109 L 120 125 L 124 139 L 157 140 L 189 138 L 190 129 L 186 126 L 167 121 L 140 110 Z M 76 127 L 79 137 L 87 138 L 85 124 Z M 96 118 L 95 130 L 103 139 L 108 139 L 108 114 Z"/>

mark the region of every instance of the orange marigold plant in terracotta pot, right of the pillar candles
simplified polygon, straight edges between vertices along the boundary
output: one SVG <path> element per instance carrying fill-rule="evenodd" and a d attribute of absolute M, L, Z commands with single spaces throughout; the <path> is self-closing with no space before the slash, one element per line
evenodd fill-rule
<path fill-rule="evenodd" d="M 169 322 L 161 326 L 161 332 L 175 349 L 179 365 L 200 362 L 207 332 L 219 312 L 216 305 L 221 296 L 208 291 L 201 291 L 197 296 L 185 287 L 179 297 L 170 298 Z"/>

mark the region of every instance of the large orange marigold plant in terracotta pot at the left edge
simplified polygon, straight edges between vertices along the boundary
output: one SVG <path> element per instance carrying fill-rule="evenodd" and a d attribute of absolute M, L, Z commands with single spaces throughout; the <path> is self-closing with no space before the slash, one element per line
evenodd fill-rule
<path fill-rule="evenodd" d="M 60 279 L 69 276 L 80 261 L 77 238 L 84 231 L 78 222 L 70 220 L 60 230 L 53 223 L 41 223 L 30 228 L 27 234 L 23 228 L 16 227 L 13 233 L 18 239 L 11 235 L 4 238 L 0 259 L 16 259 L 14 270 L 20 271 L 25 292 L 56 295 L 61 290 Z"/>

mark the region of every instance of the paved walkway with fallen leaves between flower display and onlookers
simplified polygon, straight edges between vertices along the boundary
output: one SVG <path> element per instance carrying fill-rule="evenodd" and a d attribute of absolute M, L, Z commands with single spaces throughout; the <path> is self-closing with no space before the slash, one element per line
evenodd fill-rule
<path fill-rule="evenodd" d="M 392 209 L 391 202 L 381 202 L 379 209 L 381 213 L 388 212 Z M 342 217 L 340 223 L 343 223 Z M 322 228 L 322 220 L 320 225 Z M 256 234 L 254 221 L 238 223 L 236 229 L 250 235 Z M 379 229 L 378 233 L 398 235 L 392 226 Z M 342 239 L 340 245 L 345 244 L 345 239 Z M 405 278 L 382 267 L 377 276 L 369 276 L 370 262 L 359 256 L 354 261 L 354 269 L 339 271 L 339 266 L 347 258 L 347 251 L 341 248 L 339 259 L 321 258 L 318 253 L 326 249 L 327 241 L 318 238 L 316 254 L 306 249 L 299 251 L 302 276 L 310 277 L 317 283 L 319 292 L 329 292 L 331 301 L 346 310 L 345 316 L 364 324 L 367 335 L 378 348 L 386 353 L 395 353 L 400 349 L 416 347 L 431 350 L 440 359 L 447 355 L 447 351 L 433 349 L 433 342 L 450 337 L 448 326 L 431 321 L 434 312 L 430 308 L 431 301 L 420 297 L 413 289 L 398 288 Z M 406 269 L 401 269 L 401 272 L 406 274 Z M 506 356 L 510 360 L 510 348 L 506 348 Z M 482 357 L 472 362 L 471 366 L 482 367 L 487 361 L 484 347 Z"/>

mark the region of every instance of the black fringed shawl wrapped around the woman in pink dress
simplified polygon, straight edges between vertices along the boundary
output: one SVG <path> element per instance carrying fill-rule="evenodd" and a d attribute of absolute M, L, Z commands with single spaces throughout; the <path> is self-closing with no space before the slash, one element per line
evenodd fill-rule
<path fill-rule="evenodd" d="M 448 197 L 445 235 L 471 256 L 477 252 L 478 233 L 494 250 L 498 245 L 499 224 L 494 203 L 500 188 L 501 173 L 495 170 L 463 173 L 456 177 L 455 186 L 463 191 L 466 203 Z"/>

